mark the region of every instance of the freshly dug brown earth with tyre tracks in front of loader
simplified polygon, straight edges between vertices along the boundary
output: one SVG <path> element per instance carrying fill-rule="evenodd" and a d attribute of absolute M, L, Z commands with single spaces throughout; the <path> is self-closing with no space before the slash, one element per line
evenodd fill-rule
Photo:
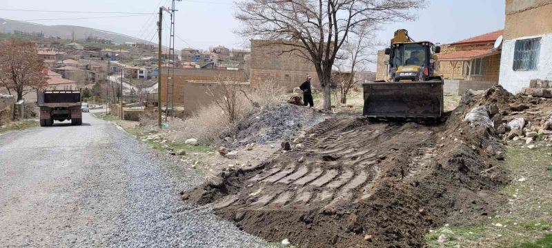
<path fill-rule="evenodd" d="M 328 119 L 292 151 L 222 172 L 183 199 L 299 247 L 421 247 L 431 227 L 480 220 L 504 203 L 504 146 L 493 127 L 462 121 L 511 97 L 492 91 L 466 94 L 441 125 Z"/>

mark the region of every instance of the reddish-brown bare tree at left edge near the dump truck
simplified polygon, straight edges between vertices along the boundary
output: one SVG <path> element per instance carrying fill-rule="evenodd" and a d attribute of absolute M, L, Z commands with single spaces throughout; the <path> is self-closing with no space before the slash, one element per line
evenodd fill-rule
<path fill-rule="evenodd" d="M 8 94 L 17 93 L 17 101 L 24 95 L 46 85 L 43 59 L 33 43 L 8 39 L 0 44 L 0 84 Z"/>

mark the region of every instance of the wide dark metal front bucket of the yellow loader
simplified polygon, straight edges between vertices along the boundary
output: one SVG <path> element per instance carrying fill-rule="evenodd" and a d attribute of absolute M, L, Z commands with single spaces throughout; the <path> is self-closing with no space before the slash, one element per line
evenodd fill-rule
<path fill-rule="evenodd" d="M 363 114 L 376 118 L 438 119 L 443 81 L 364 83 Z"/>

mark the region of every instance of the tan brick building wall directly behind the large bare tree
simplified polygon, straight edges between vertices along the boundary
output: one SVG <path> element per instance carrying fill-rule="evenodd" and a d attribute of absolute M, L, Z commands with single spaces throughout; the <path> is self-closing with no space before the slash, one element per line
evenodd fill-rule
<path fill-rule="evenodd" d="M 319 79 L 311 61 L 298 56 L 298 52 L 282 53 L 293 48 L 295 47 L 251 40 L 251 87 L 259 87 L 263 81 L 270 80 L 286 87 L 286 90 L 292 90 L 305 81 L 307 74 L 313 77 L 313 87 L 319 87 Z"/>

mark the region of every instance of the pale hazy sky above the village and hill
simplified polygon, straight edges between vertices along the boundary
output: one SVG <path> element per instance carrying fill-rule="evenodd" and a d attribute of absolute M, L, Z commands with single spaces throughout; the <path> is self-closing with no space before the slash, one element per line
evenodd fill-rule
<path fill-rule="evenodd" d="M 380 42 L 388 43 L 400 28 L 416 41 L 451 43 L 504 28 L 504 0 L 427 0 L 426 8 L 417 11 L 417 20 L 389 23 L 377 33 Z M 170 0 L 2 0 L 0 17 L 43 25 L 81 25 L 127 34 L 155 42 L 159 6 L 169 7 Z M 132 12 L 135 14 L 30 12 L 19 10 L 62 10 L 78 12 Z M 248 41 L 237 36 L 239 21 L 234 19 L 233 0 L 177 1 L 175 30 L 177 49 L 208 49 L 217 45 L 246 48 Z M 150 14 L 142 14 L 150 13 Z M 129 15 L 135 15 L 128 17 Z M 121 17 L 126 16 L 126 17 Z M 75 19 L 95 17 L 93 19 Z M 168 18 L 168 16 L 167 16 Z M 168 19 L 166 20 L 168 23 Z M 167 34 L 165 41 L 168 39 Z M 165 42 L 164 42 L 165 43 Z M 375 68 L 375 66 L 371 66 Z"/>

